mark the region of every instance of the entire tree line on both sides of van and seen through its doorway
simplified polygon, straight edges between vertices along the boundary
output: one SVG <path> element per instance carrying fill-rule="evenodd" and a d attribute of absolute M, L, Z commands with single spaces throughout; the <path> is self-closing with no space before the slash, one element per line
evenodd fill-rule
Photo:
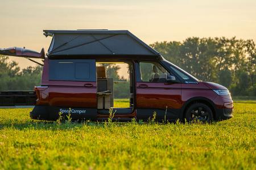
<path fill-rule="evenodd" d="M 151 46 L 196 78 L 229 88 L 233 96 L 256 96 L 256 45 L 253 40 L 189 37 L 182 42 L 155 42 Z M 123 80 L 117 75 L 119 69 L 116 65 L 108 66 L 107 74 L 115 80 Z M 21 70 L 18 63 L 0 56 L 1 91 L 33 90 L 34 86 L 40 85 L 41 76 L 42 66 Z M 115 93 L 117 97 L 124 95 L 119 86 L 116 88 L 119 92 Z"/>

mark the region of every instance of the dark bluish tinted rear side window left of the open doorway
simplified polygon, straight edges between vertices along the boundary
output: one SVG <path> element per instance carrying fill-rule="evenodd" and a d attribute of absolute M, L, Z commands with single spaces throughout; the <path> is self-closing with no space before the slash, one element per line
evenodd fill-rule
<path fill-rule="evenodd" d="M 49 80 L 96 82 L 94 59 L 49 60 Z"/>

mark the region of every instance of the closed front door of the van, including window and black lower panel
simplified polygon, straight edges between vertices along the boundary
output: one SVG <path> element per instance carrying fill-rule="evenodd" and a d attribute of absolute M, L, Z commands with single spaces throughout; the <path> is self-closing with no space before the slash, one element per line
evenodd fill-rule
<path fill-rule="evenodd" d="M 173 74 L 157 62 L 138 62 L 136 69 L 137 119 L 148 120 L 154 112 L 159 121 L 179 118 L 181 83 L 167 82 Z"/>

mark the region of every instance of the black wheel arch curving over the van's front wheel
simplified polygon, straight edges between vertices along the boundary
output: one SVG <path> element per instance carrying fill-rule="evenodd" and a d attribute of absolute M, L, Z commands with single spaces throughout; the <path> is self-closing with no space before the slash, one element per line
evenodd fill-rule
<path fill-rule="evenodd" d="M 181 114 L 182 114 L 183 118 L 185 116 L 185 111 L 187 110 L 187 108 L 189 106 L 191 106 L 192 104 L 194 104 L 194 103 L 203 103 L 203 104 L 208 105 L 208 107 L 210 109 L 212 109 L 213 119 L 214 120 L 216 119 L 216 107 L 215 107 L 215 104 L 213 103 L 212 100 L 208 99 L 207 97 L 201 97 L 201 96 L 192 97 L 191 99 L 187 100 L 183 104 L 183 107 L 181 107 Z"/>

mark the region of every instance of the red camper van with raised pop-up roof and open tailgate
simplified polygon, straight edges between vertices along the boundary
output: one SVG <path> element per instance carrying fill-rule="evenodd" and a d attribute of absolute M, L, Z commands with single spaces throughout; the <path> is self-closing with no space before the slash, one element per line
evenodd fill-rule
<path fill-rule="evenodd" d="M 230 92 L 203 82 L 164 59 L 129 31 L 44 30 L 52 41 L 48 53 L 0 49 L 7 56 L 42 58 L 42 83 L 35 91 L 0 92 L 1 107 L 29 107 L 30 117 L 57 120 L 59 112 L 73 120 L 105 121 L 113 107 L 113 86 L 105 64 L 125 63 L 129 74 L 129 107 L 113 108 L 114 120 L 226 120 L 233 117 Z M 39 63 L 40 64 L 40 63 Z"/>

